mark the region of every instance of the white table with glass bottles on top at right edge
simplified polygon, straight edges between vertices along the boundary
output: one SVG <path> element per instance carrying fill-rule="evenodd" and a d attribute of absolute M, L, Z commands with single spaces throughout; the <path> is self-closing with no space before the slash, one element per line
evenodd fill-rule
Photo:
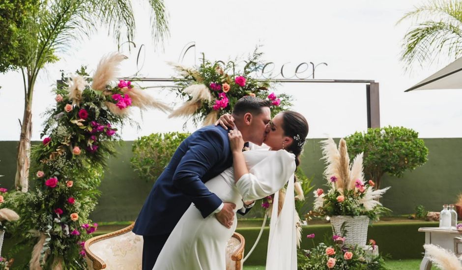
<path fill-rule="evenodd" d="M 425 232 L 425 243 L 439 245 L 451 250 L 456 256 L 462 255 L 462 231 L 433 228 L 419 228 L 419 232 Z M 420 270 L 430 270 L 432 261 L 424 255 L 420 263 Z"/>

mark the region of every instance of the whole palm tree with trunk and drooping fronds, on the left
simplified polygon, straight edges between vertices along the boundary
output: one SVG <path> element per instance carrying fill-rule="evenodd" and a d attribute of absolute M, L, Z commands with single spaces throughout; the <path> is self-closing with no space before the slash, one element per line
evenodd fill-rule
<path fill-rule="evenodd" d="M 15 184 L 28 190 L 32 96 L 41 69 L 58 60 L 58 54 L 73 42 L 89 36 L 98 26 L 106 26 L 120 45 L 132 42 L 135 19 L 131 0 L 37 0 L 37 9 L 26 19 L 18 46 L 19 69 L 23 75 L 25 103 L 18 147 Z M 148 0 L 154 42 L 168 36 L 163 0 Z"/>

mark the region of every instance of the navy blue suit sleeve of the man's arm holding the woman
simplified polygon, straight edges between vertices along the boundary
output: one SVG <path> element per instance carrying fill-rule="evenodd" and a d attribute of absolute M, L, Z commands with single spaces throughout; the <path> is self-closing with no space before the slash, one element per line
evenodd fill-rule
<path fill-rule="evenodd" d="M 204 218 L 222 203 L 217 195 L 205 187 L 202 177 L 225 158 L 225 146 L 228 144 L 224 139 L 218 131 L 212 130 L 196 136 L 173 175 L 173 185 L 191 199 Z"/>

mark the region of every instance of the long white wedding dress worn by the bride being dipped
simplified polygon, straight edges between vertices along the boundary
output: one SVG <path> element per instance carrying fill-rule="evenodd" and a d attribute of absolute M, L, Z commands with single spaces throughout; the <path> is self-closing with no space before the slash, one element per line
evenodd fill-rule
<path fill-rule="evenodd" d="M 266 270 L 296 270 L 293 217 L 295 156 L 285 150 L 251 150 L 245 151 L 244 157 L 249 173 L 237 183 L 234 182 L 234 170 L 230 167 L 207 181 L 205 186 L 223 202 L 236 204 L 235 213 L 242 208 L 243 200 L 257 200 L 275 193 L 277 202 L 279 189 L 289 182 L 283 210 L 279 217 L 272 218 L 270 222 Z M 277 216 L 277 209 L 273 207 L 273 217 Z M 236 216 L 228 229 L 213 214 L 203 218 L 191 204 L 170 234 L 153 270 L 225 270 L 226 245 L 236 225 Z"/>

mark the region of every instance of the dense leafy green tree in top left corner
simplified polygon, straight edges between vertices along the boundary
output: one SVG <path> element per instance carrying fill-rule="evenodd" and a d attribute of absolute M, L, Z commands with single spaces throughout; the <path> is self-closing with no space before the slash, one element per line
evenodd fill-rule
<path fill-rule="evenodd" d="M 37 11 L 38 0 L 0 2 L 0 73 L 21 66 L 20 44 L 26 20 Z"/>

